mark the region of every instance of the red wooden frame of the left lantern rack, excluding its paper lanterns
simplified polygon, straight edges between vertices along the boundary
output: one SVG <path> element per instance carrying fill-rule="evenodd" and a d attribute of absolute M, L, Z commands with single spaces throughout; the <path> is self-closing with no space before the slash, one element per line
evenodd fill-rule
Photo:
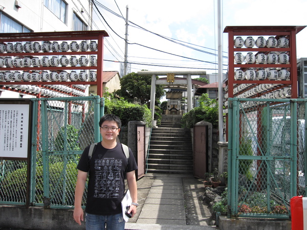
<path fill-rule="evenodd" d="M 97 85 L 97 95 L 102 97 L 102 83 L 103 83 L 103 42 L 104 37 L 108 34 L 105 31 L 68 31 L 68 32 L 40 32 L 40 33 L 2 33 L 0 36 L 0 42 L 41 42 L 41 41 L 83 41 L 83 40 L 95 40 L 98 43 L 97 51 L 77 51 L 77 52 L 31 52 L 31 53 L 0 53 L 2 56 L 12 57 L 26 57 L 26 56 L 59 56 L 59 55 L 97 55 L 97 66 L 49 66 L 49 67 L 0 67 L 0 71 L 67 71 L 67 70 L 95 70 L 97 73 L 96 81 L 6 81 L 0 82 L 0 88 L 7 89 L 7 85 L 36 85 L 39 87 L 45 87 L 45 85 L 68 85 L 74 88 L 73 85 Z M 59 42 L 60 43 L 60 42 Z M 68 42 L 70 43 L 70 42 Z M 46 87 L 48 88 L 48 86 Z M 57 91 L 56 89 L 52 89 Z M 23 90 L 13 89 L 18 93 L 25 93 L 36 97 L 41 97 L 39 94 L 33 94 L 30 92 L 24 92 Z M 68 94 L 71 95 L 71 94 Z"/>

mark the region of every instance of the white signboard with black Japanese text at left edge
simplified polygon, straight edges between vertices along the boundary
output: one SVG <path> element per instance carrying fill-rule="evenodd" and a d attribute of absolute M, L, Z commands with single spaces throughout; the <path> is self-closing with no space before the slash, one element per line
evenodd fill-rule
<path fill-rule="evenodd" d="M 0 104 L 0 157 L 28 157 L 29 104 Z"/>

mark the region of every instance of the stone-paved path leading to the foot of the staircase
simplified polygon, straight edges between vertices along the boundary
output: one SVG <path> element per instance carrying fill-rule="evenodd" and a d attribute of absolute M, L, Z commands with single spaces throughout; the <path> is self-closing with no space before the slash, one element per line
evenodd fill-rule
<path fill-rule="evenodd" d="M 146 174 L 138 183 L 137 214 L 125 229 L 213 229 L 211 214 L 199 197 L 203 182 L 192 175 Z"/>

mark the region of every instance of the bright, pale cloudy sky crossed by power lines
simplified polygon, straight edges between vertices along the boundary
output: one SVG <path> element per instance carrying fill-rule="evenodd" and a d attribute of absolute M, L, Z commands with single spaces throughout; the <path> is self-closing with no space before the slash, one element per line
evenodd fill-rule
<path fill-rule="evenodd" d="M 227 26 L 307 25 L 306 0 L 221 2 L 222 31 Z M 104 19 L 94 6 L 93 29 L 109 34 L 104 42 L 104 71 L 120 71 L 120 64 L 115 61 L 124 60 L 125 20 L 121 17 L 126 17 L 128 6 L 128 42 L 131 43 L 128 44 L 128 62 L 139 63 L 131 64 L 131 72 L 205 70 L 207 74 L 217 73 L 217 3 L 217 0 L 98 0 L 96 6 Z M 223 72 L 226 73 L 228 34 L 222 35 Z M 296 36 L 297 58 L 307 57 L 306 39 L 307 28 Z"/>

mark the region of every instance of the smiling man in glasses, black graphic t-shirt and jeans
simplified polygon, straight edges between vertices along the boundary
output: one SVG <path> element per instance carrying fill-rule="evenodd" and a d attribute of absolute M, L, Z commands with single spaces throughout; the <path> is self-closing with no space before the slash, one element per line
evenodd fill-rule
<path fill-rule="evenodd" d="M 82 196 L 87 173 L 89 183 L 85 206 L 85 225 L 88 230 L 105 229 L 124 230 L 125 221 L 122 215 L 121 200 L 124 196 L 126 177 L 132 204 L 128 213 L 134 216 L 137 212 L 137 182 L 135 170 L 138 168 L 135 157 L 129 148 L 129 158 L 125 156 L 122 145 L 116 142 L 121 121 L 113 114 L 106 114 L 99 121 L 102 141 L 97 144 L 91 159 L 90 146 L 81 155 L 75 190 L 74 220 L 81 224 L 83 210 Z"/>

